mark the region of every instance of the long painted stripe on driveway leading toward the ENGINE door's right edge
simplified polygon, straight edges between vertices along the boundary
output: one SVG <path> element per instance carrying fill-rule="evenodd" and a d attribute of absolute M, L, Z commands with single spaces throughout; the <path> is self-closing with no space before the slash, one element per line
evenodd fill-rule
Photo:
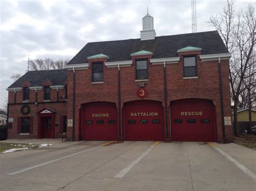
<path fill-rule="evenodd" d="M 60 157 L 60 158 L 57 158 L 57 159 L 54 159 L 54 160 L 50 160 L 50 161 L 48 161 L 48 162 L 44 162 L 44 163 L 42 163 L 42 164 L 38 164 L 38 165 L 35 165 L 35 166 L 31 166 L 31 167 L 28 167 L 28 168 L 24 168 L 24 169 L 21 169 L 20 171 L 16 171 L 16 172 L 9 173 L 8 175 L 15 175 L 15 174 L 23 173 L 23 172 L 29 171 L 29 170 L 31 170 L 31 169 L 33 169 L 33 168 L 41 167 L 41 166 L 44 166 L 44 165 L 48 165 L 48 164 L 50 164 L 50 163 L 52 163 L 52 162 L 56 162 L 56 161 L 58 161 L 58 160 L 66 159 L 66 158 L 69 158 L 69 157 L 73 157 L 73 156 L 75 156 L 75 155 L 77 155 L 77 154 L 81 154 L 81 153 L 84 153 L 84 152 L 86 152 L 86 151 L 91 151 L 91 150 L 94 150 L 94 149 L 96 149 L 96 148 L 99 148 L 99 147 L 102 147 L 102 146 L 105 146 L 105 145 L 108 145 L 108 144 L 111 144 L 111 143 L 113 143 L 113 142 L 107 142 L 107 143 L 104 143 L 104 144 L 102 144 L 102 145 L 100 145 L 100 146 L 96 146 L 96 147 L 93 147 L 93 148 L 89 148 L 89 149 L 86 149 L 86 150 L 84 150 L 84 151 L 80 151 L 80 152 L 77 152 L 77 153 L 69 154 L 69 155 L 66 155 L 66 156 L 64 156 L 64 157 Z"/>

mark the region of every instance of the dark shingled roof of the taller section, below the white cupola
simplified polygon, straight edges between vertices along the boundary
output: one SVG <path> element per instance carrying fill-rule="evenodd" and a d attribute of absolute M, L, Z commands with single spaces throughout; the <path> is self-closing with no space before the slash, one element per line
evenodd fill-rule
<path fill-rule="evenodd" d="M 187 46 L 202 48 L 201 54 L 228 53 L 219 33 L 209 31 L 161 36 L 154 40 L 127 39 L 87 43 L 68 65 L 87 63 L 87 57 L 95 54 L 109 56 L 109 62 L 131 60 L 132 53 L 142 50 L 152 52 L 152 58 L 176 57 L 177 50 Z"/>

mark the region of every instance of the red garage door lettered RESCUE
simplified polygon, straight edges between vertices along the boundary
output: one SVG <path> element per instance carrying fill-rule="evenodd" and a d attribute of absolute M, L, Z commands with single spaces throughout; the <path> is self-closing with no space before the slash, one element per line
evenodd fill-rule
<path fill-rule="evenodd" d="M 214 106 L 208 100 L 172 102 L 171 140 L 215 142 Z"/>

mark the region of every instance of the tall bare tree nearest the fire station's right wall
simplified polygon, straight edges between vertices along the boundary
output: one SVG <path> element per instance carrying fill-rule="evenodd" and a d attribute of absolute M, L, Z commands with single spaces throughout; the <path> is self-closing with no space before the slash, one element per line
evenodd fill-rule
<path fill-rule="evenodd" d="M 233 0 L 227 0 L 223 13 L 210 17 L 210 23 L 220 33 L 228 51 L 230 59 L 231 98 L 234 102 L 234 133 L 238 136 L 237 109 L 239 98 L 248 86 L 243 86 L 247 78 L 254 75 L 248 70 L 254 65 L 255 48 L 255 5 L 248 4 L 246 11 L 239 10 L 235 14 Z"/>

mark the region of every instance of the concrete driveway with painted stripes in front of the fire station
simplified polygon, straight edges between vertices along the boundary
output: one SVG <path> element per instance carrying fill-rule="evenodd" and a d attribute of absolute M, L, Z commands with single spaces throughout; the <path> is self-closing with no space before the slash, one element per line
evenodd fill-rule
<path fill-rule="evenodd" d="M 256 151 L 233 143 L 56 143 L 0 162 L 1 190 L 256 189 Z"/>

